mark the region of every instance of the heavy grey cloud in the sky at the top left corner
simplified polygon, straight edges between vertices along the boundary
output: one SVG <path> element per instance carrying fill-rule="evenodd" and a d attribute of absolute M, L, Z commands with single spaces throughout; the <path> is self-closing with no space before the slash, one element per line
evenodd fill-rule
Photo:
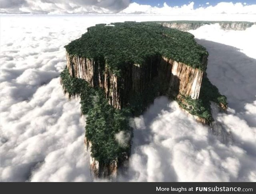
<path fill-rule="evenodd" d="M 78 14 L 116 13 L 130 0 L 1 0 L 3 13 Z"/>

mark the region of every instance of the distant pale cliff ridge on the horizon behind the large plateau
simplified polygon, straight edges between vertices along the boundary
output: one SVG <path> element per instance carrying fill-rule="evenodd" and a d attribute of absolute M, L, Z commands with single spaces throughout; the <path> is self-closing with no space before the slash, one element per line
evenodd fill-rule
<path fill-rule="evenodd" d="M 182 31 L 195 30 L 203 25 L 219 24 L 224 30 L 246 30 L 248 27 L 256 24 L 256 22 L 221 22 L 221 21 L 170 21 L 157 22 L 165 27 L 179 29 Z"/>

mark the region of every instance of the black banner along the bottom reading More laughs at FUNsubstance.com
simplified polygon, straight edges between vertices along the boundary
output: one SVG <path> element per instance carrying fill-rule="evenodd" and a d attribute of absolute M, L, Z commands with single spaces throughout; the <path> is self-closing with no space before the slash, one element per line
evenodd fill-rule
<path fill-rule="evenodd" d="M 1 182 L 2 193 L 90 193 L 90 194 L 254 194 L 255 182 Z"/>

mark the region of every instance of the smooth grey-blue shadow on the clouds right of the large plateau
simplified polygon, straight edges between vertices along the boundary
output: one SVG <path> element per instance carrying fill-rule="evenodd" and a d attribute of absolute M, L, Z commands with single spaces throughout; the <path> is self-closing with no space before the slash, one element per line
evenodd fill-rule
<path fill-rule="evenodd" d="M 228 98 L 228 107 L 240 113 L 236 116 L 245 119 L 249 126 L 256 127 L 252 117 L 245 114 L 245 105 L 256 100 L 256 59 L 236 47 L 203 39 L 196 41 L 209 52 L 207 76 Z"/>

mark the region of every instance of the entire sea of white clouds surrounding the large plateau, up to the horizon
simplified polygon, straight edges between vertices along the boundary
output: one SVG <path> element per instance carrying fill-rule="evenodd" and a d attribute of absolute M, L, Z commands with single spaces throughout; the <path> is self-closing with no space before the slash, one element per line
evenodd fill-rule
<path fill-rule="evenodd" d="M 68 101 L 59 80 L 64 45 L 97 23 L 177 19 L 1 16 L 1 181 L 91 181 L 79 99 Z M 210 53 L 208 77 L 228 97 L 227 113 L 214 110 L 217 135 L 160 97 L 131 119 L 132 155 L 121 181 L 256 181 L 256 25 L 190 32 Z"/>

